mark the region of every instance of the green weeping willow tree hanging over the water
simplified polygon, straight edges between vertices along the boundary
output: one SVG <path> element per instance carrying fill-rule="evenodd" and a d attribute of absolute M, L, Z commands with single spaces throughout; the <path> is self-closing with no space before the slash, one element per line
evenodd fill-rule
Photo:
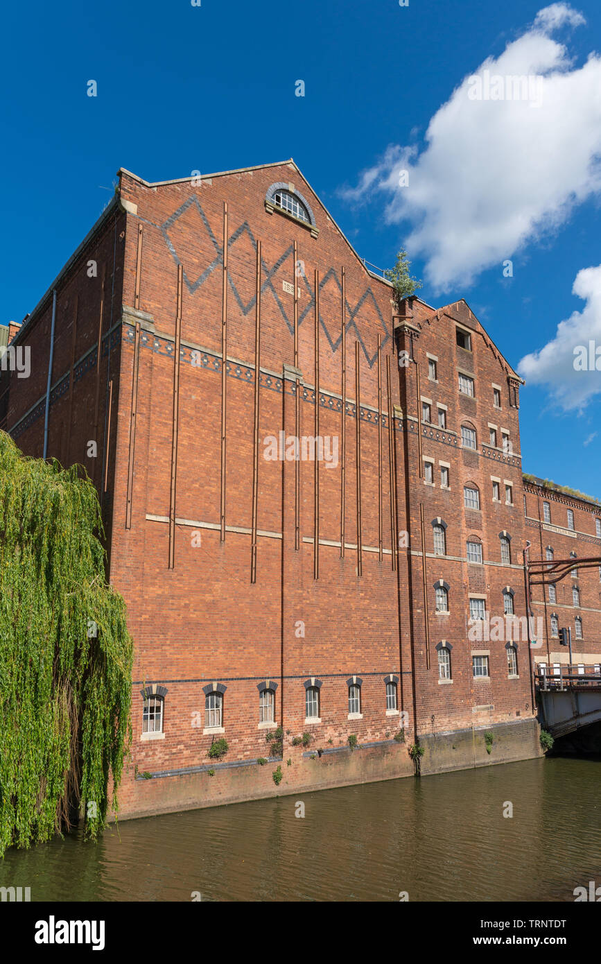
<path fill-rule="evenodd" d="M 80 804 L 95 839 L 117 807 L 133 646 L 81 471 L 0 431 L 0 856 L 65 831 Z"/>

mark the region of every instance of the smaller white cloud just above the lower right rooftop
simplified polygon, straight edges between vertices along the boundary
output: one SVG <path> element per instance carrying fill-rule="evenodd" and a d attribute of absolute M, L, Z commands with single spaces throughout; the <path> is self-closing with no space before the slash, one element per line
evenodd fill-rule
<path fill-rule="evenodd" d="M 582 412 L 601 393 L 601 265 L 579 271 L 572 292 L 585 307 L 560 322 L 555 337 L 526 355 L 517 370 L 527 384 L 548 388 L 564 412 Z"/>

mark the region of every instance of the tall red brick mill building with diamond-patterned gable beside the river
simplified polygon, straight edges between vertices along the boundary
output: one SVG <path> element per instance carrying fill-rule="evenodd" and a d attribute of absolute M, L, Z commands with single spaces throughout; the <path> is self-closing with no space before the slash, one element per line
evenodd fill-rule
<path fill-rule="evenodd" d="M 280 792 L 412 772 L 416 737 L 427 772 L 538 752 L 535 651 L 489 625 L 526 617 L 537 498 L 564 496 L 524 489 L 521 380 L 467 304 L 393 294 L 292 160 L 120 171 L 13 337 L 31 376 L 0 380 L 0 427 L 88 469 L 128 606 L 125 814 L 275 792 L 279 726 Z M 601 507 L 567 501 L 556 551 L 601 553 Z"/>

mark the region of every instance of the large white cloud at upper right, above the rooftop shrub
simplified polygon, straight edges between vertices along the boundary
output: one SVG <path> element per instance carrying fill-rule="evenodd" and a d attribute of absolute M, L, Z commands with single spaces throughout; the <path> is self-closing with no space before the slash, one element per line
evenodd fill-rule
<path fill-rule="evenodd" d="M 403 245 L 425 258 L 437 292 L 468 285 L 493 265 L 501 272 L 506 258 L 601 190 L 601 57 L 575 67 L 549 36 L 584 22 L 568 4 L 540 10 L 521 37 L 475 71 L 483 95 L 488 71 L 488 93 L 503 99 L 473 99 L 480 81 L 464 77 L 431 118 L 421 152 L 391 145 L 343 192 L 350 201 L 389 196 L 385 218 L 412 226 Z M 493 93 L 495 75 L 510 81 Z M 518 78 L 529 76 L 527 99 L 516 99 Z"/>

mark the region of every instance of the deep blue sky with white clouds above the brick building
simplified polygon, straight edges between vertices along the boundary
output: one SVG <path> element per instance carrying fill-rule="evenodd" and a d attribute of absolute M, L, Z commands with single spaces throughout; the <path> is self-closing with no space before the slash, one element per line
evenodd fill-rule
<path fill-rule="evenodd" d="M 573 367 L 601 349 L 598 0 L 34 2 L 4 22 L 0 321 L 35 306 L 120 166 L 292 156 L 359 254 L 406 247 L 426 301 L 464 297 L 514 367 L 531 355 L 524 470 L 601 497 L 601 371 Z M 542 77 L 541 102 L 466 95 L 488 58 Z"/>

